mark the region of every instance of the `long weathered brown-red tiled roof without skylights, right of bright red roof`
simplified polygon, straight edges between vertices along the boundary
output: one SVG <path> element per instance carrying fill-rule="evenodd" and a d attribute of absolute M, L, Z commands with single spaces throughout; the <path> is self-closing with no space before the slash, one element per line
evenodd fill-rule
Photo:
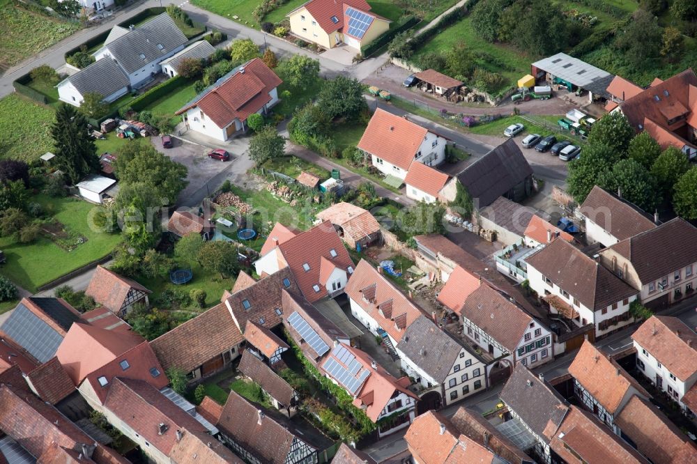
<path fill-rule="evenodd" d="M 193 371 L 243 341 L 225 303 L 204 311 L 150 342 L 164 369 Z"/>

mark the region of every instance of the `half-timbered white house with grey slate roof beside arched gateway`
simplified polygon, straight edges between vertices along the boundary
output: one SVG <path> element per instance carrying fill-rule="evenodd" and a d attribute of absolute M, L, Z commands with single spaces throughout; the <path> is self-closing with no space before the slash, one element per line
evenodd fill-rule
<path fill-rule="evenodd" d="M 426 316 L 407 327 L 397 354 L 409 377 L 438 394 L 438 408 L 487 388 L 486 361 Z"/>

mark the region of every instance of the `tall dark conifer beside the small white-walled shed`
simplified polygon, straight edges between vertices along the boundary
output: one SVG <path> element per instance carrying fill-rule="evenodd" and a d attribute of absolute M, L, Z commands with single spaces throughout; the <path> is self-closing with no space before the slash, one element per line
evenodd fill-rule
<path fill-rule="evenodd" d="M 100 169 L 97 147 L 87 133 L 87 119 L 75 107 L 64 103 L 58 108 L 51 135 L 56 146 L 56 167 L 68 183 L 75 185 Z"/>

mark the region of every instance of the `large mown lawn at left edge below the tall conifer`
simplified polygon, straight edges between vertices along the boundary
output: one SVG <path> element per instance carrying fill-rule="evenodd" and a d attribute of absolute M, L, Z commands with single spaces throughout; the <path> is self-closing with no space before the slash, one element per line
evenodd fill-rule
<path fill-rule="evenodd" d="M 87 239 L 72 252 L 66 252 L 43 236 L 30 244 L 18 243 L 11 237 L 0 238 L 0 249 L 7 258 L 0 274 L 32 293 L 38 286 L 107 256 L 121 241 L 118 233 L 91 229 L 90 214 L 99 206 L 72 197 L 54 199 L 44 194 L 33 196 L 31 201 L 40 203 L 47 214 L 65 226 L 66 231 L 81 233 Z"/>

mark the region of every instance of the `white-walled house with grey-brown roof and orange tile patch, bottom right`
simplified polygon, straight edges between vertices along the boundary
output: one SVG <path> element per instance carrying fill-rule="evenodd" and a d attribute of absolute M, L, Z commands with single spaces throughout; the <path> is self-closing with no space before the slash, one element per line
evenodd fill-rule
<path fill-rule="evenodd" d="M 560 426 L 569 403 L 544 381 L 544 376 L 535 376 L 522 364 L 513 369 L 499 396 L 508 408 L 510 421 L 527 432 L 528 436 L 521 434 L 528 439 L 525 451 L 539 459 L 538 462 L 551 463 L 549 442 L 554 430 L 550 429 Z M 510 426 L 506 427 L 509 429 Z"/>

